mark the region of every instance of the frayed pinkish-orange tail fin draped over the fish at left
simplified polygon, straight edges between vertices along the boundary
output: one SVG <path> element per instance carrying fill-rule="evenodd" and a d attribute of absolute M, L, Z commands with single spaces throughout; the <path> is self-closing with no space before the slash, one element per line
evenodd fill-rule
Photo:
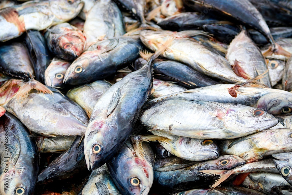
<path fill-rule="evenodd" d="M 28 93 L 32 90 L 36 89 L 38 92 L 42 93 L 48 93 L 48 94 L 54 94 L 51 89 L 46 87 L 44 84 L 41 84 L 37 80 L 30 80 L 29 82 L 25 83 L 18 92 L 16 92 L 15 97 L 21 98 L 21 97 L 27 97 Z"/>

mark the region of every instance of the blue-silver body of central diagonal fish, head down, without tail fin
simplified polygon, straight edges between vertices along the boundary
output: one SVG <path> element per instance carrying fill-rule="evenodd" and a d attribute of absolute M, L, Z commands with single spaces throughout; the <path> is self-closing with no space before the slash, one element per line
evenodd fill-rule
<path fill-rule="evenodd" d="M 103 165 L 130 137 L 151 89 L 150 61 L 113 84 L 98 99 L 85 133 L 84 153 L 88 170 Z M 100 146 L 100 151 L 95 154 L 93 146 L 96 144 Z"/>

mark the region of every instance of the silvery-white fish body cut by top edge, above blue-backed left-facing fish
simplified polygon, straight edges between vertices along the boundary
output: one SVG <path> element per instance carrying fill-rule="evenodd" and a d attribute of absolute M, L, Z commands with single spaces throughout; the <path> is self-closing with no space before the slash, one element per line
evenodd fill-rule
<path fill-rule="evenodd" d="M 118 6 L 111 0 L 96 1 L 84 23 L 86 49 L 103 39 L 125 34 L 124 20 Z"/>

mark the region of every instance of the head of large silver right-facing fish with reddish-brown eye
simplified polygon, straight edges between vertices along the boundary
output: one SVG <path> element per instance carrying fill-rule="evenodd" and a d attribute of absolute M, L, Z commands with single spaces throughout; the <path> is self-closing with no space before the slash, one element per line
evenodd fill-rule
<path fill-rule="evenodd" d="M 273 115 L 261 109 L 239 104 L 228 106 L 223 118 L 228 129 L 242 132 L 269 129 L 279 122 Z"/>

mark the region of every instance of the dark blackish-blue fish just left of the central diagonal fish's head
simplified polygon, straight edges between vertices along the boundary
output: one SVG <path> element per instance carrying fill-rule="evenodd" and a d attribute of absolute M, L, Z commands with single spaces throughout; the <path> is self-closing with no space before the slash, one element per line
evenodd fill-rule
<path fill-rule="evenodd" d="M 71 147 L 51 162 L 38 176 L 38 183 L 50 182 L 55 178 L 67 179 L 75 173 L 84 171 L 84 139 L 77 136 Z"/>

